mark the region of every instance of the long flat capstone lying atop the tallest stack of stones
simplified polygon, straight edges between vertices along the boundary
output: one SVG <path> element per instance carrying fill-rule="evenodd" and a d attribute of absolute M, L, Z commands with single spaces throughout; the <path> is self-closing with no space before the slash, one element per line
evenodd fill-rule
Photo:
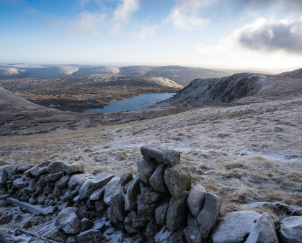
<path fill-rule="evenodd" d="M 179 164 L 181 153 L 173 149 L 163 149 L 160 146 L 142 146 L 140 148 L 145 158 L 153 158 L 168 166 Z"/>

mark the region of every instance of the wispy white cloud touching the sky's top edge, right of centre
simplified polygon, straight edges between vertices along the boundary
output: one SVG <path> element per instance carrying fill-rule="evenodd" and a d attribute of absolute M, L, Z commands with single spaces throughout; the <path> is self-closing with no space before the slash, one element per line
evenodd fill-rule
<path fill-rule="evenodd" d="M 171 9 L 164 24 L 171 23 L 174 28 L 192 31 L 195 28 L 204 28 L 208 19 L 199 17 L 201 8 L 217 0 L 176 0 L 176 5 Z"/>

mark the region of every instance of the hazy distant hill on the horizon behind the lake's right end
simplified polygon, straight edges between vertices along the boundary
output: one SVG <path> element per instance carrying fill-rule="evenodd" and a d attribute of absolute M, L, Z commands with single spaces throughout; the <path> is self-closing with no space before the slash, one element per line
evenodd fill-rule
<path fill-rule="evenodd" d="M 199 67 L 165 66 L 157 67 L 144 76 L 158 76 L 169 78 L 179 85 L 186 86 L 196 78 L 215 78 L 230 75 L 230 72 L 204 69 Z"/>

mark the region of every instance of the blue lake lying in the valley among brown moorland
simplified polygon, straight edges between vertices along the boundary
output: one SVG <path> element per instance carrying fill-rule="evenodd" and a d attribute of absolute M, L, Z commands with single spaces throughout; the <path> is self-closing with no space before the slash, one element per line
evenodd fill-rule
<path fill-rule="evenodd" d="M 176 93 L 152 93 L 152 94 L 141 94 L 137 97 L 129 99 L 123 99 L 121 101 L 113 101 L 104 108 L 90 109 L 85 112 L 113 112 L 113 111 L 127 111 L 127 110 L 140 110 L 147 106 L 154 105 L 156 102 L 169 99 Z"/>

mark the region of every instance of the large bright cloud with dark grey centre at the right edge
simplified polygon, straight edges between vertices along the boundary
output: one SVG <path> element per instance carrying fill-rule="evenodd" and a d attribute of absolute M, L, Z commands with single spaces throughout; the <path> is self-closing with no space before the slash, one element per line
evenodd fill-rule
<path fill-rule="evenodd" d="M 218 44 L 196 50 L 203 55 L 242 53 L 260 51 L 277 53 L 302 53 L 302 17 L 295 20 L 256 19 L 251 24 L 238 28 Z"/>

